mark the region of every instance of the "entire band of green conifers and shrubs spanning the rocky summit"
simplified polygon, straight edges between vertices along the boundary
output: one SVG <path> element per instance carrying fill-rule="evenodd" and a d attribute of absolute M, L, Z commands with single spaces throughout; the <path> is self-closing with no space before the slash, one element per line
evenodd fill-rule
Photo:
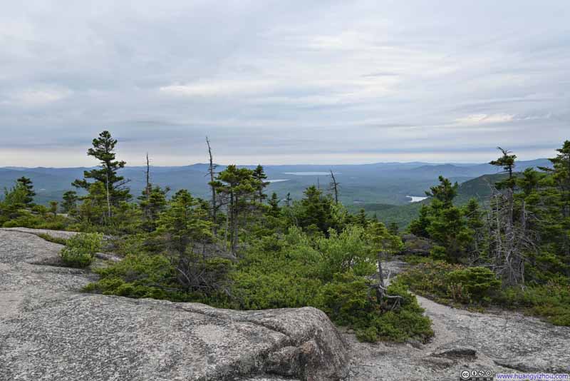
<path fill-rule="evenodd" d="M 88 292 L 242 310 L 309 305 L 371 342 L 433 334 L 408 286 L 446 303 L 508 305 L 569 322 L 570 142 L 551 171 L 517 174 L 504 151 L 497 165 L 508 176 L 487 209 L 475 200 L 454 205 L 457 184 L 440 178 L 403 232 L 429 242 L 430 258 L 410 258 L 417 265 L 388 287 L 378 268 L 403 250 L 401 226 L 349 213 L 332 173 L 328 191 L 310 186 L 298 200 L 281 200 L 266 195 L 262 166 L 216 171 L 211 158 L 209 200 L 171 194 L 147 168 L 133 202 L 116 144 L 107 131 L 93 140 L 88 155 L 100 167 L 73 183 L 80 191 L 66 192 L 61 210 L 34 205 L 26 178 L 0 203 L 4 226 L 83 232 L 62 250 L 68 265 L 89 265 L 101 233 L 112 236 L 108 245 L 124 258 L 95 269 L 100 280 Z"/>

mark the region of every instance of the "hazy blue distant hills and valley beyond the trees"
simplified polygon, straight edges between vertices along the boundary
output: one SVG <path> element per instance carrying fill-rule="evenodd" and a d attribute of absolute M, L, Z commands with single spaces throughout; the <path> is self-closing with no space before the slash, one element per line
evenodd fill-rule
<path fill-rule="evenodd" d="M 549 166 L 547 159 L 533 161 L 518 161 L 517 171 L 537 166 Z M 254 168 L 254 166 L 242 166 Z M 71 190 L 71 183 L 76 178 L 83 178 L 83 171 L 95 167 L 76 168 L 24 168 L 0 167 L 0 189 L 14 185 L 16 178 L 26 176 L 31 178 L 36 188 L 36 202 L 48 203 L 49 200 L 61 200 L 66 190 Z M 160 186 L 170 186 L 172 192 L 181 188 L 188 189 L 199 197 L 208 197 L 207 168 L 205 163 L 195 163 L 189 166 L 151 166 L 152 183 Z M 222 171 L 223 165 L 217 167 Z M 333 171 L 336 180 L 341 183 L 341 201 L 346 205 L 353 203 L 385 203 L 405 205 L 408 195 L 424 195 L 424 191 L 437 183 L 438 176 L 450 178 L 452 181 L 464 183 L 484 174 L 493 174 L 499 168 L 488 163 L 369 163 L 326 166 L 321 164 L 294 164 L 279 166 L 264 166 L 269 180 L 280 180 L 271 183 L 268 192 L 276 192 L 285 198 L 287 193 L 292 198 L 300 198 L 303 191 L 311 185 L 321 186 L 327 191 Z M 144 166 L 125 167 L 120 171 L 122 176 L 130 179 L 128 186 L 132 194 L 137 196 L 145 186 Z M 299 176 L 301 173 L 304 176 Z M 306 173 L 313 173 L 307 176 Z"/>

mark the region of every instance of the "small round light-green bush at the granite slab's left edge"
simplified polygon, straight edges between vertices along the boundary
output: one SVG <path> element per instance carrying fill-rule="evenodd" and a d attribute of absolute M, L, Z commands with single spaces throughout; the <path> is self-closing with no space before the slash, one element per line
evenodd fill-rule
<path fill-rule="evenodd" d="M 93 262 L 95 253 L 101 250 L 103 235 L 81 233 L 73 235 L 61 249 L 61 260 L 70 267 L 85 268 Z"/>

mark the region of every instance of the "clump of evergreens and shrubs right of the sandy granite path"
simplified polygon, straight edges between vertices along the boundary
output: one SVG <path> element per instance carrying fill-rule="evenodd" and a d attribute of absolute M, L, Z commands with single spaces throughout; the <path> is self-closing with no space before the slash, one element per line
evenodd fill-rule
<path fill-rule="evenodd" d="M 518 308 L 569 325 L 570 141 L 541 171 L 517 173 L 517 156 L 499 150 L 491 164 L 504 174 L 489 185 L 487 210 L 475 200 L 455 206 L 457 184 L 445 178 L 427 193 L 410 230 L 435 245 L 429 259 L 410 258 L 415 266 L 400 281 L 443 302 Z"/>

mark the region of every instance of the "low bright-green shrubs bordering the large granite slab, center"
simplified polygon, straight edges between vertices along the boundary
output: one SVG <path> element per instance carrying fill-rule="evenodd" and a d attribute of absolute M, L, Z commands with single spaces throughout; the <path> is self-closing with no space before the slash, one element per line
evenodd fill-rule
<path fill-rule="evenodd" d="M 364 276 L 373 273 L 374 268 L 363 236 L 361 230 L 352 229 L 338 235 L 331 233 L 329 238 L 310 238 L 302 230 L 291 228 L 284 235 L 254 240 L 235 264 L 222 258 L 194 260 L 166 252 L 145 253 L 142 241 L 133 240 L 129 246 L 142 251 L 96 269 L 100 280 L 85 290 L 238 310 L 313 306 L 337 324 L 353 328 L 360 340 L 427 339 L 433 335 L 430 319 L 423 316 L 415 296 L 405 286 L 388 288 L 390 295 L 401 297 L 397 306 L 393 299 L 380 303 L 376 300 L 371 281 Z M 180 260 L 185 258 L 189 260 L 185 267 L 189 278 L 193 273 L 203 273 L 221 280 L 223 288 L 193 291 L 197 288 L 192 287 L 192 282 L 180 278 Z"/>

